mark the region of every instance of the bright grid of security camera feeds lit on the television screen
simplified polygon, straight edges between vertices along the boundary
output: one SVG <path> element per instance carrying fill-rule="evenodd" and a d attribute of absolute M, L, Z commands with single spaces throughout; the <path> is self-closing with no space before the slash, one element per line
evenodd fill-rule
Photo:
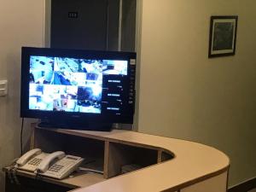
<path fill-rule="evenodd" d="M 32 55 L 29 109 L 102 113 L 102 79 L 127 68 L 127 61 Z"/>

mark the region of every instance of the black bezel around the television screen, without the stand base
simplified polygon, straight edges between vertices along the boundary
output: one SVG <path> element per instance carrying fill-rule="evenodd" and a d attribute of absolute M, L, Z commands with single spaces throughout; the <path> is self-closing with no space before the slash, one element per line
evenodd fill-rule
<path fill-rule="evenodd" d="M 99 51 L 99 50 L 84 50 L 84 49 L 51 49 L 51 48 L 21 48 L 21 86 L 20 86 L 20 117 L 21 118 L 34 118 L 34 119 L 52 119 L 54 121 L 61 121 L 69 119 L 71 121 L 81 121 L 94 124 L 94 123 L 122 123 L 132 124 L 134 108 L 130 113 L 123 113 L 121 115 L 113 115 L 107 113 L 68 113 L 56 111 L 40 111 L 29 109 L 29 73 L 30 73 L 30 56 L 60 56 L 71 58 L 90 58 L 90 59 L 106 59 L 106 60 L 127 60 L 127 91 L 130 86 L 131 79 L 131 59 L 136 59 L 134 52 L 121 52 L 121 51 Z M 127 92 L 126 94 L 129 95 Z M 128 97 L 127 97 L 128 102 Z M 133 101 L 134 102 L 134 101 Z"/>

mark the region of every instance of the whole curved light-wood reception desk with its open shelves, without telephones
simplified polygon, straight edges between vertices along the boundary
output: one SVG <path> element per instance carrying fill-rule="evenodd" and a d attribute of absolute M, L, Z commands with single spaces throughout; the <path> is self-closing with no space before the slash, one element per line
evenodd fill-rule
<path fill-rule="evenodd" d="M 61 150 L 80 156 L 85 160 L 84 168 L 101 171 L 103 175 L 74 172 L 72 177 L 62 180 L 39 177 L 37 184 L 32 180 L 38 179 L 35 173 L 17 171 L 20 185 L 6 183 L 6 192 L 68 190 L 62 187 L 77 192 L 227 190 L 229 158 L 216 148 L 200 143 L 134 131 L 47 129 L 32 124 L 31 148 L 41 148 L 45 153 Z M 133 171 L 131 166 L 139 167 L 139 170 L 126 173 L 127 170 Z M 8 167 L 3 171 L 9 182 Z M 21 177 L 31 179 L 24 180 Z M 47 186 L 46 183 L 54 185 Z"/>

